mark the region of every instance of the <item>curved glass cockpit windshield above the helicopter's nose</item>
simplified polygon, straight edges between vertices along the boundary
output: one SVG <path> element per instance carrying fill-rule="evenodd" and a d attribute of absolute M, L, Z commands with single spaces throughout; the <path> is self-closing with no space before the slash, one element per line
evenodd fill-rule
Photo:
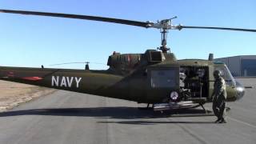
<path fill-rule="evenodd" d="M 235 86 L 234 78 L 233 78 L 232 74 L 230 73 L 230 70 L 226 67 L 226 65 L 225 66 L 215 66 L 214 70 L 221 71 L 222 78 L 225 79 L 226 85 Z"/>

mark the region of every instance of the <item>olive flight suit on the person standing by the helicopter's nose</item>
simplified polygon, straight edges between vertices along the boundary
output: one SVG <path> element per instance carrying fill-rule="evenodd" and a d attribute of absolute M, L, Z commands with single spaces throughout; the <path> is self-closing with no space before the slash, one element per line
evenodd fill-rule
<path fill-rule="evenodd" d="M 226 122 L 226 83 L 225 80 L 219 76 L 215 78 L 214 94 L 213 94 L 213 110 L 214 115 L 217 116 L 216 122 Z"/>

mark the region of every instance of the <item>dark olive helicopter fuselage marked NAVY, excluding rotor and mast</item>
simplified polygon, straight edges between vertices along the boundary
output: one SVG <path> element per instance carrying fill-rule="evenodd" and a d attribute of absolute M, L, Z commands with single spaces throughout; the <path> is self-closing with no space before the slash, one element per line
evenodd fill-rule
<path fill-rule="evenodd" d="M 150 51 L 158 52 L 162 56 L 158 58 L 158 62 L 152 62 L 152 59 L 147 58 Z M 222 71 L 222 77 L 226 80 L 227 101 L 235 101 L 244 94 L 243 87 L 234 81 L 222 62 L 199 59 L 175 60 L 171 57 L 172 54 L 150 51 L 136 54 L 136 57 L 124 54 L 124 57 L 137 60 L 128 61 L 124 58 L 123 62 L 110 65 L 109 70 L 1 66 L 0 79 L 139 103 L 172 101 L 205 103 L 211 101 L 214 89 L 213 72 L 218 69 Z M 134 63 L 127 64 L 127 62 Z M 178 94 L 178 97 L 172 98 L 173 94 Z"/>

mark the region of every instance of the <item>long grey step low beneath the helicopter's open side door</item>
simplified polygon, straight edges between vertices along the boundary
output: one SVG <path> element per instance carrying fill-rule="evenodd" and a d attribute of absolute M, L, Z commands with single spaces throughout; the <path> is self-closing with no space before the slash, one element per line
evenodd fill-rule
<path fill-rule="evenodd" d="M 178 109 L 194 108 L 194 107 L 198 107 L 198 106 L 200 106 L 200 105 L 193 101 L 158 103 L 158 104 L 153 105 L 153 110 L 154 111 L 178 110 Z"/>

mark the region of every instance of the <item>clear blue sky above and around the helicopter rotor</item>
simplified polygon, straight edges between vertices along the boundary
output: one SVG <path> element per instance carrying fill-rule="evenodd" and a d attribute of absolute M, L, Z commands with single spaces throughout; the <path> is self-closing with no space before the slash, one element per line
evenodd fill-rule
<path fill-rule="evenodd" d="M 0 0 L 0 9 L 84 14 L 184 26 L 256 29 L 254 0 Z M 0 13 L 0 66 L 104 70 L 113 51 L 144 53 L 161 45 L 157 29 L 69 18 Z M 256 33 L 227 30 L 170 30 L 167 45 L 178 59 L 256 54 Z M 96 64 L 102 63 L 102 64 Z"/>

